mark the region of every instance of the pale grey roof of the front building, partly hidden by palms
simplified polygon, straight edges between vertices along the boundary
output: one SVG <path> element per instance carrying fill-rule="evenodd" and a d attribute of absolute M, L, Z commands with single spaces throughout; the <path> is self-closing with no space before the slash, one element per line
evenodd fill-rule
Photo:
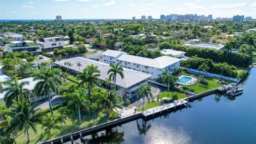
<path fill-rule="evenodd" d="M 94 66 L 98 66 L 98 69 L 100 70 L 99 79 L 101 79 L 102 81 L 105 81 L 105 78 L 109 77 L 108 70 L 111 67 L 109 66 L 109 64 L 104 63 L 104 62 L 85 59 L 82 57 L 75 57 L 75 58 L 64 59 L 64 60 L 57 61 L 54 63 L 55 63 L 55 65 L 61 65 L 62 67 L 66 67 L 64 65 L 64 63 L 67 61 L 69 61 L 71 63 L 71 66 L 67 67 L 67 68 L 70 68 L 72 70 L 79 71 L 82 73 L 83 69 L 86 66 L 94 65 Z M 81 62 L 81 64 L 82 64 L 80 69 L 76 65 L 77 62 Z M 124 69 L 124 78 L 122 79 L 121 76 L 117 75 L 116 85 L 119 85 L 119 86 L 125 87 L 125 88 L 128 88 L 128 87 L 130 87 L 134 84 L 137 84 L 141 81 L 144 81 L 145 79 L 152 76 L 150 74 L 142 73 L 140 71 L 135 71 L 135 70 L 127 69 L 127 68 L 123 68 L 123 69 Z M 111 82 L 111 83 L 113 83 L 113 82 Z"/>

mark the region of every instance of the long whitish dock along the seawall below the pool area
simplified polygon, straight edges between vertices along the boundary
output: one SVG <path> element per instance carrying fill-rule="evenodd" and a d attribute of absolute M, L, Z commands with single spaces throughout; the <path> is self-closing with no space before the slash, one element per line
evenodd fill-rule
<path fill-rule="evenodd" d="M 155 114 L 159 114 L 159 113 L 162 114 L 163 111 L 166 111 L 172 108 L 174 109 L 180 108 L 182 107 L 182 105 L 185 105 L 186 103 L 188 103 L 188 101 L 180 99 L 180 100 L 177 100 L 176 102 L 166 103 L 158 107 L 147 109 L 142 112 L 142 115 L 147 117 L 147 116 L 154 116 Z"/>

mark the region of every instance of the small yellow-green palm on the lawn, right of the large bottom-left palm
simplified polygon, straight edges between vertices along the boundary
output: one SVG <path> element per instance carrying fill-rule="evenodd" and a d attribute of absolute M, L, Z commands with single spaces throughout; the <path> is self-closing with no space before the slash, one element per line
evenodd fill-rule
<path fill-rule="evenodd" d="M 42 129 L 44 130 L 44 135 L 47 135 L 47 139 L 51 138 L 51 130 L 61 130 L 61 127 L 58 125 L 57 119 L 50 115 L 46 115 L 43 117 L 41 125 Z"/>

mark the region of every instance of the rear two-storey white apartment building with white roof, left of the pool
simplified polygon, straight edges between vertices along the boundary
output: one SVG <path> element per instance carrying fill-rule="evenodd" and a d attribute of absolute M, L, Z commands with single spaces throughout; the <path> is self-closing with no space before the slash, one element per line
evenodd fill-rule
<path fill-rule="evenodd" d="M 151 74 L 150 79 L 156 79 L 162 76 L 163 71 L 172 73 L 174 67 L 180 66 L 180 59 L 162 56 L 155 59 L 129 55 L 121 51 L 107 50 L 102 53 L 102 60 L 106 63 L 120 63 L 120 66 L 127 69 L 141 71 Z"/>

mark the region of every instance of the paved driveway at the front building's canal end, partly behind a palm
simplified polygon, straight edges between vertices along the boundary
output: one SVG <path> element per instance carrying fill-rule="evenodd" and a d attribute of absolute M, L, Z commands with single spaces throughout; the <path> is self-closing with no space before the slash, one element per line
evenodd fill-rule
<path fill-rule="evenodd" d="M 158 86 L 155 84 L 151 84 L 151 90 L 150 92 L 153 94 L 153 97 L 157 97 L 158 94 L 160 94 L 161 92 L 165 91 L 167 89 L 167 87 L 163 87 L 163 86 Z M 151 98 L 149 99 L 151 100 Z M 131 104 L 135 107 L 142 107 L 143 106 L 143 99 L 137 99 L 137 97 L 133 97 L 132 99 L 130 99 Z M 148 103 L 148 99 L 145 99 L 145 103 Z"/>

